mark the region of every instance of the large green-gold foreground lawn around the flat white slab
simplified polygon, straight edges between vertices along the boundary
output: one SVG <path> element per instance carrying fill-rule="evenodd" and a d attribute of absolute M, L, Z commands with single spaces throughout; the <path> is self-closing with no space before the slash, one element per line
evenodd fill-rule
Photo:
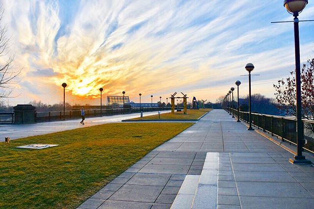
<path fill-rule="evenodd" d="M 0 142 L 0 208 L 76 208 L 192 123 L 117 123 Z M 57 147 L 18 149 L 33 143 Z"/>

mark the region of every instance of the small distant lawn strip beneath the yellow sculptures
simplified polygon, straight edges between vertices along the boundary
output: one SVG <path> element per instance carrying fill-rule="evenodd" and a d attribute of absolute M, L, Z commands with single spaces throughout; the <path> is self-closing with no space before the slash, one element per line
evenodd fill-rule
<path fill-rule="evenodd" d="M 187 114 L 181 112 L 171 113 L 162 113 L 160 114 L 160 119 L 158 115 L 150 115 L 142 118 L 132 118 L 126 121 L 141 121 L 141 120 L 197 120 L 199 117 L 203 116 L 211 109 L 188 109 Z"/>

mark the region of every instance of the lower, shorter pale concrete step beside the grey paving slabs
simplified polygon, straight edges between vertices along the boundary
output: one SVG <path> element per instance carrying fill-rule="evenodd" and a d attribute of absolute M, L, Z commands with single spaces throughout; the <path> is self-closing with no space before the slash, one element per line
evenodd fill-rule
<path fill-rule="evenodd" d="M 187 175 L 171 209 L 191 209 L 200 175 Z"/>

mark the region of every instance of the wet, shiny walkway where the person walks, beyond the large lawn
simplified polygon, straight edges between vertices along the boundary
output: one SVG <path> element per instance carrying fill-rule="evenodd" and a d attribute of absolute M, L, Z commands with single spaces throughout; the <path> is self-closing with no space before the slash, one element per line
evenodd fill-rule
<path fill-rule="evenodd" d="M 160 111 L 162 113 L 170 112 L 170 111 Z M 155 112 L 144 112 L 144 116 L 156 115 Z M 125 115 L 111 115 L 111 116 L 103 116 L 103 117 L 93 117 L 86 118 L 84 123 L 85 125 L 81 125 L 79 121 L 81 119 L 73 119 L 73 120 L 65 120 L 65 121 L 53 121 L 53 122 L 44 122 L 44 123 L 36 123 L 36 124 L 1 124 L 0 125 L 0 141 L 4 141 L 4 137 L 10 137 L 11 139 L 22 138 L 26 136 L 34 136 L 34 135 L 42 135 L 46 133 L 53 133 L 59 131 L 66 131 L 72 129 L 78 129 L 83 127 L 90 127 L 101 125 L 105 123 L 117 123 L 122 120 L 127 120 L 131 118 L 140 117 L 140 113 L 132 113 Z"/>

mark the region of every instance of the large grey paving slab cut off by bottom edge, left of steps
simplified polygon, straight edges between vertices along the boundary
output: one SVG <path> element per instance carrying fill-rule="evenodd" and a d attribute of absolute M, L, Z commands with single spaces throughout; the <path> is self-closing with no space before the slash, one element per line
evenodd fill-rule
<path fill-rule="evenodd" d="M 106 200 L 98 209 L 150 209 L 152 203 Z"/>

